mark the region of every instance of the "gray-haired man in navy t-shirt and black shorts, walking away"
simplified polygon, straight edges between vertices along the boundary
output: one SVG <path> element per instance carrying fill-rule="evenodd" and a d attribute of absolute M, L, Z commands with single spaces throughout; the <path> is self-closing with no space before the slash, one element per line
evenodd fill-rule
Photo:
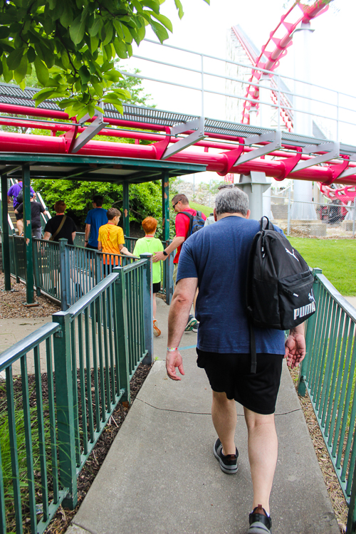
<path fill-rule="evenodd" d="M 211 417 L 218 434 L 213 453 L 224 473 L 237 472 L 237 401 L 244 406 L 253 484 L 248 534 L 270 534 L 269 497 L 278 454 L 274 412 L 283 355 L 288 365 L 298 365 L 305 356 L 305 340 L 303 325 L 290 330 L 286 343 L 281 330 L 254 328 L 257 370 L 251 373 L 246 271 L 260 224 L 249 220 L 249 214 L 246 193 L 224 189 L 216 196 L 216 224 L 184 244 L 169 310 L 166 367 L 173 380 L 181 379 L 176 367 L 184 375 L 178 347 L 199 288 L 197 365 L 204 368 L 212 389 Z"/>

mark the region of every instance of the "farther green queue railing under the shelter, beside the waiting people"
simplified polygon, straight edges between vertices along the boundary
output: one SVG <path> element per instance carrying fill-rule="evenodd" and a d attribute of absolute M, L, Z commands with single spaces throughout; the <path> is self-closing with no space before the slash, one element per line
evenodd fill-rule
<path fill-rule="evenodd" d="M 125 239 L 127 248 L 133 251 L 136 240 Z M 11 275 L 16 277 L 17 282 L 26 283 L 24 238 L 11 234 L 9 241 Z M 43 292 L 58 300 L 62 310 L 67 310 L 70 305 L 87 294 L 108 276 L 113 268 L 127 266 L 135 261 L 137 258 L 130 256 L 108 254 L 84 246 L 68 245 L 66 239 L 56 242 L 33 238 L 33 276 L 36 294 L 41 295 Z M 172 256 L 169 256 L 162 264 L 161 290 L 169 303 L 173 294 Z"/>

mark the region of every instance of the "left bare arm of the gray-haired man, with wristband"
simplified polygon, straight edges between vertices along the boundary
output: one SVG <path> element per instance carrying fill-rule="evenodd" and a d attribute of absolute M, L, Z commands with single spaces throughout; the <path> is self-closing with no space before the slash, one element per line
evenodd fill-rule
<path fill-rule="evenodd" d="M 198 287 L 198 278 L 182 278 L 177 282 L 168 315 L 168 347 L 179 347 L 180 340 L 187 326 L 189 310 Z M 172 380 L 180 380 L 176 367 L 184 375 L 183 360 L 179 350 L 168 352 L 166 356 L 167 375 Z"/>

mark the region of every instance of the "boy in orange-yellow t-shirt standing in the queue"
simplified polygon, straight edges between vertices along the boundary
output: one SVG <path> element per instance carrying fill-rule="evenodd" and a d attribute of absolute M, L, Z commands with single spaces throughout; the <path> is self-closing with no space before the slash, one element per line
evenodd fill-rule
<path fill-rule="evenodd" d="M 116 208 L 110 208 L 106 214 L 108 216 L 108 224 L 103 224 L 103 226 L 100 226 L 99 228 L 98 251 L 103 251 L 108 254 L 125 254 L 126 256 L 133 256 L 133 254 L 124 246 L 125 237 L 122 228 L 117 226 L 120 221 L 121 211 Z M 104 256 L 104 264 L 105 263 L 107 264 L 108 270 L 105 274 L 108 274 L 111 271 L 110 267 L 114 264 L 114 258 L 111 258 L 110 261 L 110 256 L 108 259 Z M 116 258 L 115 265 L 117 266 L 118 264 L 119 262 Z"/>

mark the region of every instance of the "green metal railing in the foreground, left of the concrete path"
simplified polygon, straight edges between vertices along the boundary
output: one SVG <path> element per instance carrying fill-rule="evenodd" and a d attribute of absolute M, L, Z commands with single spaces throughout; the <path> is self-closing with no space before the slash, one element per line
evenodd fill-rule
<path fill-rule="evenodd" d="M 80 470 L 117 402 L 130 402 L 137 366 L 152 363 L 151 262 L 115 268 L 0 355 L 1 533 L 23 533 L 29 518 L 41 534 L 61 503 L 75 508 Z"/>

